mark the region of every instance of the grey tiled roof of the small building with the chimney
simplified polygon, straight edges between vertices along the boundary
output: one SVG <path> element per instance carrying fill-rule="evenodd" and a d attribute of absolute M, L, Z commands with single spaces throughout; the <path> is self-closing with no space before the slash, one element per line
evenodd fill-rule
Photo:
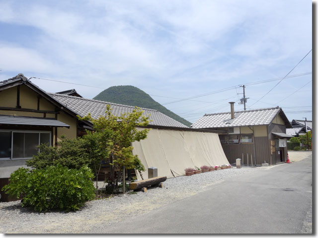
<path fill-rule="evenodd" d="M 235 119 L 231 113 L 206 114 L 194 122 L 192 128 L 221 128 L 248 125 L 268 125 L 280 112 L 281 108 L 265 108 L 235 112 Z"/>

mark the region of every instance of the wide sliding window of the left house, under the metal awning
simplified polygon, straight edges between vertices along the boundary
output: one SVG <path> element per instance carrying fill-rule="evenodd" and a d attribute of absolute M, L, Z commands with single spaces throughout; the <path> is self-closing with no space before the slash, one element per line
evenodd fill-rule
<path fill-rule="evenodd" d="M 51 145 L 51 132 L 0 131 L 0 159 L 31 158 L 42 143 Z"/>

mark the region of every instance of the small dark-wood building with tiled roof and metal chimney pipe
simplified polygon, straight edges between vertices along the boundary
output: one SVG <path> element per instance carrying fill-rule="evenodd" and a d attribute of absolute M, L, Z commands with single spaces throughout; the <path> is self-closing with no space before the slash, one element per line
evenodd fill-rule
<path fill-rule="evenodd" d="M 244 164 L 257 166 L 264 161 L 270 165 L 285 162 L 286 140 L 293 137 L 286 133 L 292 125 L 279 107 L 235 112 L 231 103 L 231 112 L 206 114 L 191 127 L 224 131 L 219 137 L 230 163 L 240 158 Z"/>

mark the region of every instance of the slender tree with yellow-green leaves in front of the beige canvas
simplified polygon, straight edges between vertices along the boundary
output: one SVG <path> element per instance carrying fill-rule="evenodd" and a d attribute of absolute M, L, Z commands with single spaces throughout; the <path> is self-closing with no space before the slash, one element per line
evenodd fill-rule
<path fill-rule="evenodd" d="M 122 178 L 124 168 L 145 171 L 145 167 L 138 158 L 138 155 L 133 155 L 131 143 L 145 139 L 150 129 L 137 130 L 138 126 L 147 126 L 149 123 L 149 117 L 144 117 L 143 111 L 138 107 L 132 113 L 125 113 L 121 116 L 114 116 L 111 111 L 110 105 L 107 105 L 104 117 L 93 119 L 88 114 L 86 117 L 80 119 L 91 121 L 96 133 L 106 129 L 112 131 L 112 146 L 108 159 L 111 165 L 111 178 L 108 185 L 111 186 L 114 192 L 118 189 L 118 181 Z M 119 171 L 118 176 L 115 176 L 115 171 Z"/>

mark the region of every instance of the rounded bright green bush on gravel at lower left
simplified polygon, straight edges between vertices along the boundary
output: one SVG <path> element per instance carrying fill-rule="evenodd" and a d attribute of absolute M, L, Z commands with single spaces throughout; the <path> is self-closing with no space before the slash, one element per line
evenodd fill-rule
<path fill-rule="evenodd" d="M 76 211 L 88 200 L 94 199 L 93 173 L 82 167 L 68 169 L 62 165 L 44 169 L 19 168 L 2 190 L 22 198 L 22 207 L 44 212 L 52 209 Z"/>

